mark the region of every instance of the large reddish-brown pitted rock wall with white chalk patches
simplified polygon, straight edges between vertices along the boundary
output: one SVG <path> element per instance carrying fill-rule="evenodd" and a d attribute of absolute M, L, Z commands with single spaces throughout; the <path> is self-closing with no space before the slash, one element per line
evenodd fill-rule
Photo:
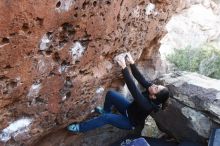
<path fill-rule="evenodd" d="M 154 58 L 177 5 L 177 0 L 0 1 L 1 144 L 33 145 L 44 137 L 71 141 L 74 136 L 63 129 L 86 119 L 120 80 L 113 57 L 130 51 L 136 60 Z"/>

